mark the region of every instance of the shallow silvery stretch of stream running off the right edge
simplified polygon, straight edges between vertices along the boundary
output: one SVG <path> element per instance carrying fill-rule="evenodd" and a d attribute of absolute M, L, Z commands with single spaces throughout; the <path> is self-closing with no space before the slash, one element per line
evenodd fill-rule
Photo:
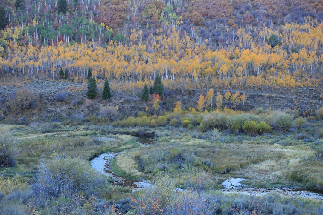
<path fill-rule="evenodd" d="M 278 187 L 273 189 L 266 188 L 255 188 L 241 184 L 240 181 L 243 181 L 243 178 L 231 178 L 227 181 L 222 182 L 224 189 L 221 191 L 223 193 L 241 193 L 247 195 L 266 195 L 268 193 L 276 192 L 284 196 L 298 196 L 303 198 L 312 198 L 323 200 L 323 191 L 297 188 L 297 187 Z"/>

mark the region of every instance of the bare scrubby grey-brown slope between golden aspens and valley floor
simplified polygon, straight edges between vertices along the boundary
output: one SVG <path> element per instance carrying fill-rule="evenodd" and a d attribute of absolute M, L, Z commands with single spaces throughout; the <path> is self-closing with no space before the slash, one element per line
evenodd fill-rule
<path fill-rule="evenodd" d="M 98 87 L 97 98 L 91 100 L 86 97 L 86 84 L 69 81 L 32 81 L 31 83 L 25 83 L 23 86 L 4 86 L 0 93 L 2 121 L 15 124 L 47 121 L 62 122 L 78 117 L 75 116 L 76 113 L 83 114 L 82 118 L 84 120 L 91 115 L 99 116 L 100 109 L 105 106 L 116 105 L 118 105 L 118 112 L 120 113 L 118 118 L 137 116 L 138 112 L 154 114 L 152 98 L 149 101 L 142 100 L 141 89 L 132 92 L 120 92 L 116 90 L 117 86 L 112 84 L 112 98 L 105 101 L 101 99 L 102 84 L 99 84 Z M 21 89 L 31 90 L 32 94 L 36 95 L 32 112 L 30 112 L 29 108 L 24 110 L 12 107 L 13 101 L 16 101 L 16 92 Z M 158 115 L 162 112 L 172 112 L 177 101 L 182 103 L 183 109 L 197 108 L 199 95 L 203 93 L 206 96 L 208 90 L 208 88 L 193 91 L 166 90 Z M 227 91 L 234 93 L 236 90 L 214 88 L 215 93 L 220 92 L 223 96 Z M 315 115 L 316 110 L 323 105 L 319 92 L 309 87 L 294 90 L 284 90 L 283 88 L 258 88 L 255 90 L 245 88 L 240 90 L 240 93 L 245 93 L 247 96 L 244 106 L 240 105 L 239 108 L 239 110 L 243 111 L 254 111 L 257 107 L 262 107 L 265 110 L 285 110 L 299 116 L 311 116 Z M 223 102 L 222 107 L 225 106 L 225 102 Z M 231 102 L 230 106 L 232 106 Z M 148 111 L 146 107 L 149 108 Z"/>

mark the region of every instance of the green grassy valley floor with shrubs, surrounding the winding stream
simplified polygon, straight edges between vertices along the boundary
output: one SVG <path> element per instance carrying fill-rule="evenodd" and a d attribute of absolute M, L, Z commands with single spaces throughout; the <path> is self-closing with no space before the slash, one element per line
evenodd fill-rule
<path fill-rule="evenodd" d="M 0 170 L 0 214 L 186 214 L 183 208 L 190 214 L 323 213 L 321 200 L 220 191 L 229 178 L 245 178 L 243 183 L 259 188 L 322 190 L 320 115 L 193 110 L 140 113 L 109 126 L 101 122 L 92 117 L 0 125 L 12 140 L 16 162 Z M 155 143 L 140 145 L 135 137 L 111 131 L 153 131 Z M 108 151 L 120 152 L 111 162 L 113 171 L 152 186 L 133 192 L 93 171 L 89 160 Z M 174 192 L 175 187 L 184 191 Z"/>

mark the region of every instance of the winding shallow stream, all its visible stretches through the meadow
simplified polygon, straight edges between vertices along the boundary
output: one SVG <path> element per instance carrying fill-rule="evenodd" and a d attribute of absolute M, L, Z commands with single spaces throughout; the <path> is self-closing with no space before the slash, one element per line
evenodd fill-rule
<path fill-rule="evenodd" d="M 154 140 L 145 137 L 137 137 L 136 142 L 140 145 L 148 145 L 155 143 Z M 111 176 L 113 178 L 113 185 L 116 186 L 133 186 L 136 189 L 143 189 L 149 186 L 148 181 L 144 180 L 132 180 L 120 176 L 113 172 L 109 166 L 110 160 L 112 160 L 115 156 L 117 156 L 119 152 L 107 152 L 101 154 L 99 157 L 95 157 L 91 160 L 92 167 L 97 171 L 101 172 L 102 174 Z M 271 192 L 276 192 L 280 195 L 284 196 L 298 196 L 303 198 L 313 198 L 313 199 L 320 199 L 323 200 L 323 191 L 318 190 L 311 190 L 311 189 L 303 189 L 303 188 L 273 188 L 273 189 L 266 189 L 266 188 L 255 188 L 250 187 L 244 184 L 241 184 L 240 181 L 243 181 L 243 178 L 231 178 L 227 181 L 222 182 L 224 189 L 221 191 L 223 193 L 241 193 L 247 195 L 266 195 Z"/>

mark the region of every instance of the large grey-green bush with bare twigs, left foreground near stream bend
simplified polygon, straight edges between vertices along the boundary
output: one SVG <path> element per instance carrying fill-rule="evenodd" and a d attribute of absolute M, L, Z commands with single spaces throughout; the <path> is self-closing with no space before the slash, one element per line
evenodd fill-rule
<path fill-rule="evenodd" d="M 46 193 L 57 199 L 60 195 L 75 192 L 90 194 L 103 185 L 103 178 L 79 158 L 56 156 L 52 161 L 40 162 L 33 188 L 37 193 Z"/>

